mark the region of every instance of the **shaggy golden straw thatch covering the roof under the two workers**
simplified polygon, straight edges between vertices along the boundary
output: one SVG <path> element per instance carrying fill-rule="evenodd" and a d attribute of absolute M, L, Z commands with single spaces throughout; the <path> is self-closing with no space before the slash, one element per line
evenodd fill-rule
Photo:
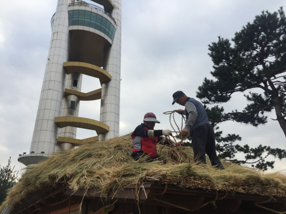
<path fill-rule="evenodd" d="M 6 204 L 20 210 L 59 189 L 93 188 L 105 198 L 110 190 L 121 190 L 130 184 L 138 186 L 147 181 L 234 194 L 286 197 L 286 175 L 282 173 L 263 173 L 227 162 L 223 162 L 225 170 L 210 164 L 196 165 L 192 148 L 161 145 L 157 149 L 162 160 L 146 163 L 144 159 L 134 161 L 130 156 L 131 148 L 129 134 L 61 151 L 28 168 L 21 181 L 9 191 L 0 210 Z"/>

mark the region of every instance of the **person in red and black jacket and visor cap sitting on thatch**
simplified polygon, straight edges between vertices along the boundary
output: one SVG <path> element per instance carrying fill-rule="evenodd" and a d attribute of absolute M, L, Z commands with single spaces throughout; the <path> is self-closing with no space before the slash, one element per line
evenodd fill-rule
<path fill-rule="evenodd" d="M 169 142 L 165 141 L 161 136 L 170 136 L 172 131 L 169 129 L 165 130 L 154 130 L 155 123 L 160 123 L 155 114 L 146 113 L 144 115 L 143 123 L 138 125 L 133 131 L 131 137 L 133 139 L 133 149 L 131 156 L 137 160 L 140 156 L 145 156 L 147 162 L 151 162 L 158 158 L 157 155 L 157 143 L 165 145 Z"/>

